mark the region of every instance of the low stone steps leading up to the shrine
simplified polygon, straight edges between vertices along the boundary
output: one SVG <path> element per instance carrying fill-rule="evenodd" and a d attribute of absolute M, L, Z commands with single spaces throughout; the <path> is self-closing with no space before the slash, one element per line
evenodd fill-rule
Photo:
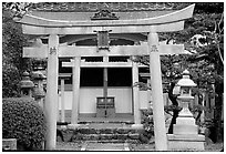
<path fill-rule="evenodd" d="M 140 133 L 130 123 L 114 122 L 90 122 L 81 124 L 75 130 L 61 129 L 64 142 L 86 143 L 138 143 Z"/>

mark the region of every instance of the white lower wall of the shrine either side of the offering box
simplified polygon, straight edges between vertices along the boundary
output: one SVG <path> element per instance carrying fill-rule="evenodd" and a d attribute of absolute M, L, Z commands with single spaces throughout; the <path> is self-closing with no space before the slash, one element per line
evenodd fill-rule
<path fill-rule="evenodd" d="M 109 96 L 114 96 L 116 113 L 132 113 L 132 88 L 109 88 Z M 103 96 L 103 88 L 80 89 L 80 113 L 96 113 L 96 97 Z M 64 109 L 72 110 L 72 91 L 64 92 Z M 59 94 L 59 109 L 61 96 Z"/>

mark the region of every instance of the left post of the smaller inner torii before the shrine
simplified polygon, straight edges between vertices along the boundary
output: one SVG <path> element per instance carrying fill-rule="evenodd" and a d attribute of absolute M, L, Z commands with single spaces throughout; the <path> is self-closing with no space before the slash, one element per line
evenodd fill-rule
<path fill-rule="evenodd" d="M 80 63 L 81 57 L 74 58 L 74 66 L 73 71 L 73 101 L 72 101 L 72 117 L 71 124 L 76 126 L 78 125 L 78 117 L 79 117 L 79 102 L 80 102 Z"/>

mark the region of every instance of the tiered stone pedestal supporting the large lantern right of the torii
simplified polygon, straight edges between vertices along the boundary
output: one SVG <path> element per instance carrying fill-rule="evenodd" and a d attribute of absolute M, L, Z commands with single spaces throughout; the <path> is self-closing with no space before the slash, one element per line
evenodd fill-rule
<path fill-rule="evenodd" d="M 181 102 L 188 104 L 187 102 Z M 174 124 L 174 134 L 168 134 L 168 151 L 204 151 L 205 136 L 198 135 L 195 119 L 185 105 Z"/>

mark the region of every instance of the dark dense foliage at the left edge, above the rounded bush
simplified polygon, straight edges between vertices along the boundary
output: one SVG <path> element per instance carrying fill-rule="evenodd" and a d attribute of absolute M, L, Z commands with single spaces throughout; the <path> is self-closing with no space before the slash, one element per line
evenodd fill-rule
<path fill-rule="evenodd" d="M 22 34 L 20 24 L 12 20 L 11 11 L 2 11 L 2 96 L 19 96 L 18 83 L 30 60 L 22 58 L 22 47 L 28 38 Z"/>

